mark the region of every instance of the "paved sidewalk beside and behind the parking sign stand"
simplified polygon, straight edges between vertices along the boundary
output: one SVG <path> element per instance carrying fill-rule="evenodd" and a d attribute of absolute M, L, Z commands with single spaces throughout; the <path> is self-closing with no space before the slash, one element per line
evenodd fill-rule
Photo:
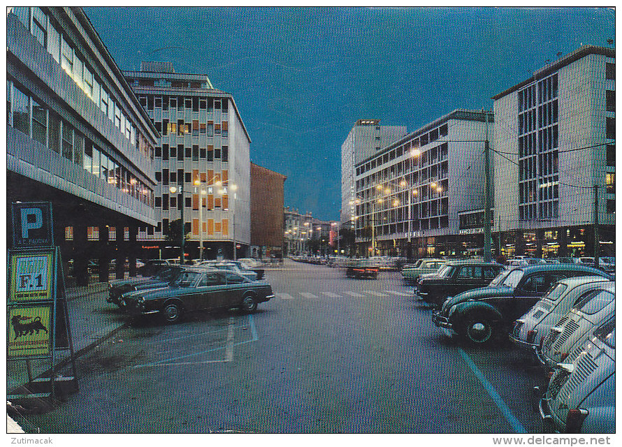
<path fill-rule="evenodd" d="M 106 302 L 108 284 L 96 282 L 97 276 L 89 279 L 88 286 L 66 288 L 67 311 L 73 339 L 75 356 L 88 351 L 103 339 L 110 337 L 128 321 L 126 315 L 113 304 Z M 69 350 L 56 352 L 56 365 L 69 360 Z M 30 360 L 33 378 L 50 369 L 50 360 Z M 78 372 L 79 373 L 79 372 Z M 80 376 L 78 374 L 78 382 Z M 9 361 L 6 365 L 6 386 L 10 390 L 28 383 L 25 360 Z"/>

